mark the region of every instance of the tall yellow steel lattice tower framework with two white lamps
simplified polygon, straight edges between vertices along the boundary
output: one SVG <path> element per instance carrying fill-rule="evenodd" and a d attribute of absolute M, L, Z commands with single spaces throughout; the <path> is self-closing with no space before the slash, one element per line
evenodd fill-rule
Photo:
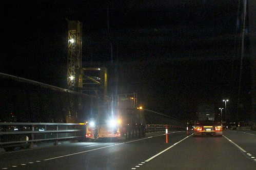
<path fill-rule="evenodd" d="M 107 95 L 107 69 L 82 68 L 82 22 L 68 20 L 68 88 L 80 93 L 89 93 L 99 97 L 100 101 L 105 101 Z M 88 71 L 96 71 L 91 76 Z M 100 71 L 100 72 L 99 72 Z M 97 77 L 94 74 L 100 76 Z M 88 82 L 89 81 L 89 82 Z M 100 103 L 98 101 L 98 103 Z M 69 96 L 69 110 L 66 115 L 67 123 L 75 123 L 77 114 L 83 108 L 83 103 L 76 96 Z"/>

